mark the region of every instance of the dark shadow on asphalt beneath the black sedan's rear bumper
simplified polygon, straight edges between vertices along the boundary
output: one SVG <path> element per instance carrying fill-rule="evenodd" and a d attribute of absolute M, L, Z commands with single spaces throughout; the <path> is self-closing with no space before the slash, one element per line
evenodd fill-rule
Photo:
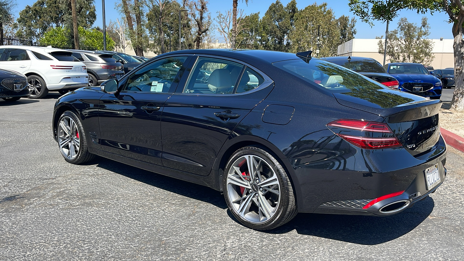
<path fill-rule="evenodd" d="M 296 229 L 302 235 L 377 245 L 409 233 L 432 213 L 434 206 L 433 199 L 428 196 L 425 200 L 416 202 L 412 208 L 389 216 L 299 213 L 284 226 L 265 232 L 281 234 Z"/>

